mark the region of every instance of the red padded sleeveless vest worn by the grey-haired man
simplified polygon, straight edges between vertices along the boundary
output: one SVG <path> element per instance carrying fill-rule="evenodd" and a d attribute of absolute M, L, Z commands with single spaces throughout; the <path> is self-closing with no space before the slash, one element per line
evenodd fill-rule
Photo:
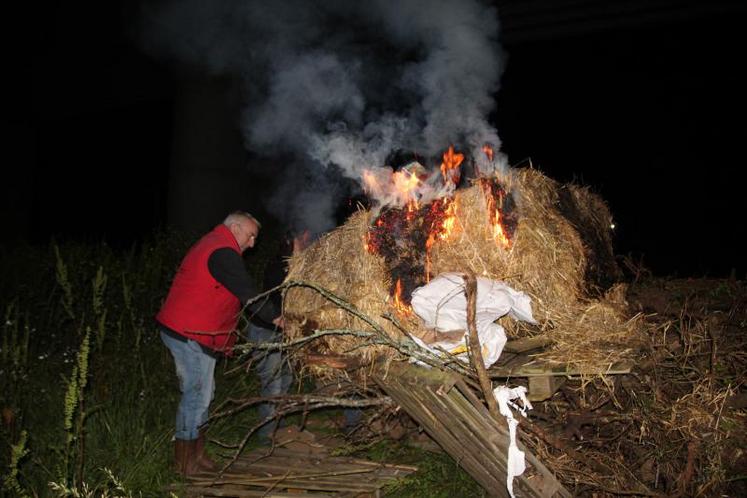
<path fill-rule="evenodd" d="M 218 225 L 190 248 L 156 320 L 188 339 L 228 353 L 236 342 L 241 303 L 208 270 L 208 258 L 223 247 L 241 254 L 228 227 Z"/>

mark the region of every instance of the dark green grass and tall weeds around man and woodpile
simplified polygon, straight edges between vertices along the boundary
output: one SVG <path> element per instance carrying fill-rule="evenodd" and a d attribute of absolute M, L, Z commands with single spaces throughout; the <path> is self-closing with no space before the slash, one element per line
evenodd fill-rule
<path fill-rule="evenodd" d="M 250 257 L 258 279 L 267 242 Z M 179 393 L 152 317 L 189 243 L 161 233 L 127 251 L 103 242 L 0 248 L 0 497 L 168 496 L 178 482 L 170 462 Z M 228 374 L 236 361 L 217 365 L 214 407 L 257 393 L 252 373 Z M 255 421 L 246 410 L 209 435 L 236 444 Z M 443 454 L 385 442 L 358 456 L 422 469 L 389 496 L 481 495 Z"/>

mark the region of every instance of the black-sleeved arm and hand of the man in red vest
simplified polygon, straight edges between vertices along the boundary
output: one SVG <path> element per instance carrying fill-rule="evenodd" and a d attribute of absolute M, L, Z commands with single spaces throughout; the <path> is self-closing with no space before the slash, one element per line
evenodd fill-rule
<path fill-rule="evenodd" d="M 236 251 L 224 247 L 213 251 L 208 258 L 208 270 L 215 280 L 236 296 L 241 305 L 259 294 L 252 279 L 246 273 L 244 261 Z M 259 318 L 266 324 L 272 324 L 280 311 L 268 299 L 260 299 L 249 306 L 250 315 Z M 269 325 L 268 328 L 272 328 Z"/>

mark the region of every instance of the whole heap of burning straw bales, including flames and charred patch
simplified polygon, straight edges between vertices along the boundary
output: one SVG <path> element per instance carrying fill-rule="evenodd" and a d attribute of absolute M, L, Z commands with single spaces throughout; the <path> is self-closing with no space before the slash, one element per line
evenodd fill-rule
<path fill-rule="evenodd" d="M 453 172 L 443 174 L 447 185 L 459 181 Z M 509 337 L 544 333 L 554 346 L 543 359 L 604 370 L 638 342 L 636 322 L 625 316 L 624 289 L 610 286 L 618 276 L 610 225 L 604 202 L 587 189 L 560 185 L 535 169 L 514 170 L 477 178 L 430 202 L 410 198 L 399 208 L 361 210 L 294 256 L 288 279 L 346 299 L 396 339 L 402 331 L 385 315 L 414 335 L 426 334 L 409 308 L 412 291 L 441 273 L 470 271 L 532 298 L 539 330 L 506 320 Z M 319 329 L 370 329 L 299 287 L 288 290 L 285 314 L 290 338 Z M 392 354 L 350 336 L 328 336 L 313 347 L 364 360 Z"/>

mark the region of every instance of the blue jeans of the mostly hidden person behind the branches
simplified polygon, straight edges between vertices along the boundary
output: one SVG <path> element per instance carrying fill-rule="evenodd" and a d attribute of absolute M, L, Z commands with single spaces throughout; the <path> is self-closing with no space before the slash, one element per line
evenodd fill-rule
<path fill-rule="evenodd" d="M 269 330 L 249 324 L 247 339 L 254 344 L 265 344 L 270 342 L 282 342 L 281 331 Z M 280 351 L 268 351 L 259 349 L 252 353 L 255 369 L 259 376 L 260 396 L 278 396 L 288 392 L 293 376 L 288 369 L 288 364 L 283 360 Z M 260 420 L 266 420 L 275 414 L 275 405 L 262 403 L 258 408 Z M 275 424 L 265 424 L 259 431 L 260 437 L 268 437 L 272 434 Z"/>

